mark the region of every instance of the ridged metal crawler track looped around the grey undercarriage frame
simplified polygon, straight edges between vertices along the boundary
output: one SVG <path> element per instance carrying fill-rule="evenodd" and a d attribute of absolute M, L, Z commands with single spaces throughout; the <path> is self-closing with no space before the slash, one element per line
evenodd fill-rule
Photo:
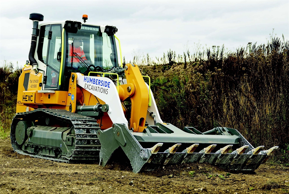
<path fill-rule="evenodd" d="M 70 158 L 62 157 L 60 159 L 42 156 L 42 155 L 34 155 L 27 153 L 21 149 L 16 142 L 15 138 L 15 128 L 20 121 L 20 119 L 32 120 L 31 118 L 35 118 L 33 120 L 37 120 L 40 116 L 50 116 L 57 118 L 58 120 L 63 120 L 63 122 L 69 122 L 73 125 L 75 130 L 75 149 L 73 151 L 73 155 Z M 96 119 L 92 117 L 86 117 L 83 115 L 78 115 L 76 113 L 71 113 L 66 110 L 59 109 L 36 109 L 29 112 L 17 113 L 13 118 L 11 124 L 11 144 L 15 152 L 22 155 L 29 155 L 35 158 L 41 158 L 46 160 L 52 160 L 56 162 L 77 162 L 77 161 L 99 161 L 99 151 L 101 148 L 99 139 L 97 137 L 97 130 L 99 128 L 99 124 Z"/>

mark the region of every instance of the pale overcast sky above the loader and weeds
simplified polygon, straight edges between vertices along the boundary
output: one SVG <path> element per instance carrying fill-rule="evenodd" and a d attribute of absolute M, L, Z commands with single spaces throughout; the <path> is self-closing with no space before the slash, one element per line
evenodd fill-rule
<path fill-rule="evenodd" d="M 194 43 L 204 47 L 225 45 L 228 50 L 248 42 L 266 43 L 272 33 L 289 37 L 289 1 L 4 1 L 0 0 L 0 64 L 28 60 L 32 21 L 76 20 L 88 15 L 88 24 L 118 28 L 122 53 L 152 58 L 172 49 L 182 54 Z"/>

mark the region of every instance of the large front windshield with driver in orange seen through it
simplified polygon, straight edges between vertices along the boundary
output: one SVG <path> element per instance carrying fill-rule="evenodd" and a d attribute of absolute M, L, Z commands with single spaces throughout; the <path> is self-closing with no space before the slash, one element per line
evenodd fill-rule
<path fill-rule="evenodd" d="M 66 33 L 66 37 L 67 70 L 84 73 L 90 65 L 104 69 L 118 66 L 114 36 L 101 33 L 99 26 L 82 25 L 76 34 Z"/>

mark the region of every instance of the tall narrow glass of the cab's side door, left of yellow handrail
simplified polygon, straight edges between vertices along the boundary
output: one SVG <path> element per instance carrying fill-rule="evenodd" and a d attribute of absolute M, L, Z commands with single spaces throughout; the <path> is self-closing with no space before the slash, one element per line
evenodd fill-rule
<path fill-rule="evenodd" d="M 45 89 L 55 89 L 58 86 L 60 62 L 57 60 L 57 53 L 61 50 L 61 25 L 51 25 L 51 40 L 49 41 L 47 60 L 47 83 Z"/>

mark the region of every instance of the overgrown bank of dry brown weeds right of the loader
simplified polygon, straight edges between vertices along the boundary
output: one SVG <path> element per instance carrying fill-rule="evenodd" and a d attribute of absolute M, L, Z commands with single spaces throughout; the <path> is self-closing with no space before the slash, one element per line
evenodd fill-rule
<path fill-rule="evenodd" d="M 207 58 L 199 55 L 185 69 L 177 63 L 141 69 L 151 76 L 165 122 L 201 131 L 235 128 L 254 147 L 279 146 L 288 163 L 289 42 L 271 37 L 248 47 L 207 50 Z"/>

